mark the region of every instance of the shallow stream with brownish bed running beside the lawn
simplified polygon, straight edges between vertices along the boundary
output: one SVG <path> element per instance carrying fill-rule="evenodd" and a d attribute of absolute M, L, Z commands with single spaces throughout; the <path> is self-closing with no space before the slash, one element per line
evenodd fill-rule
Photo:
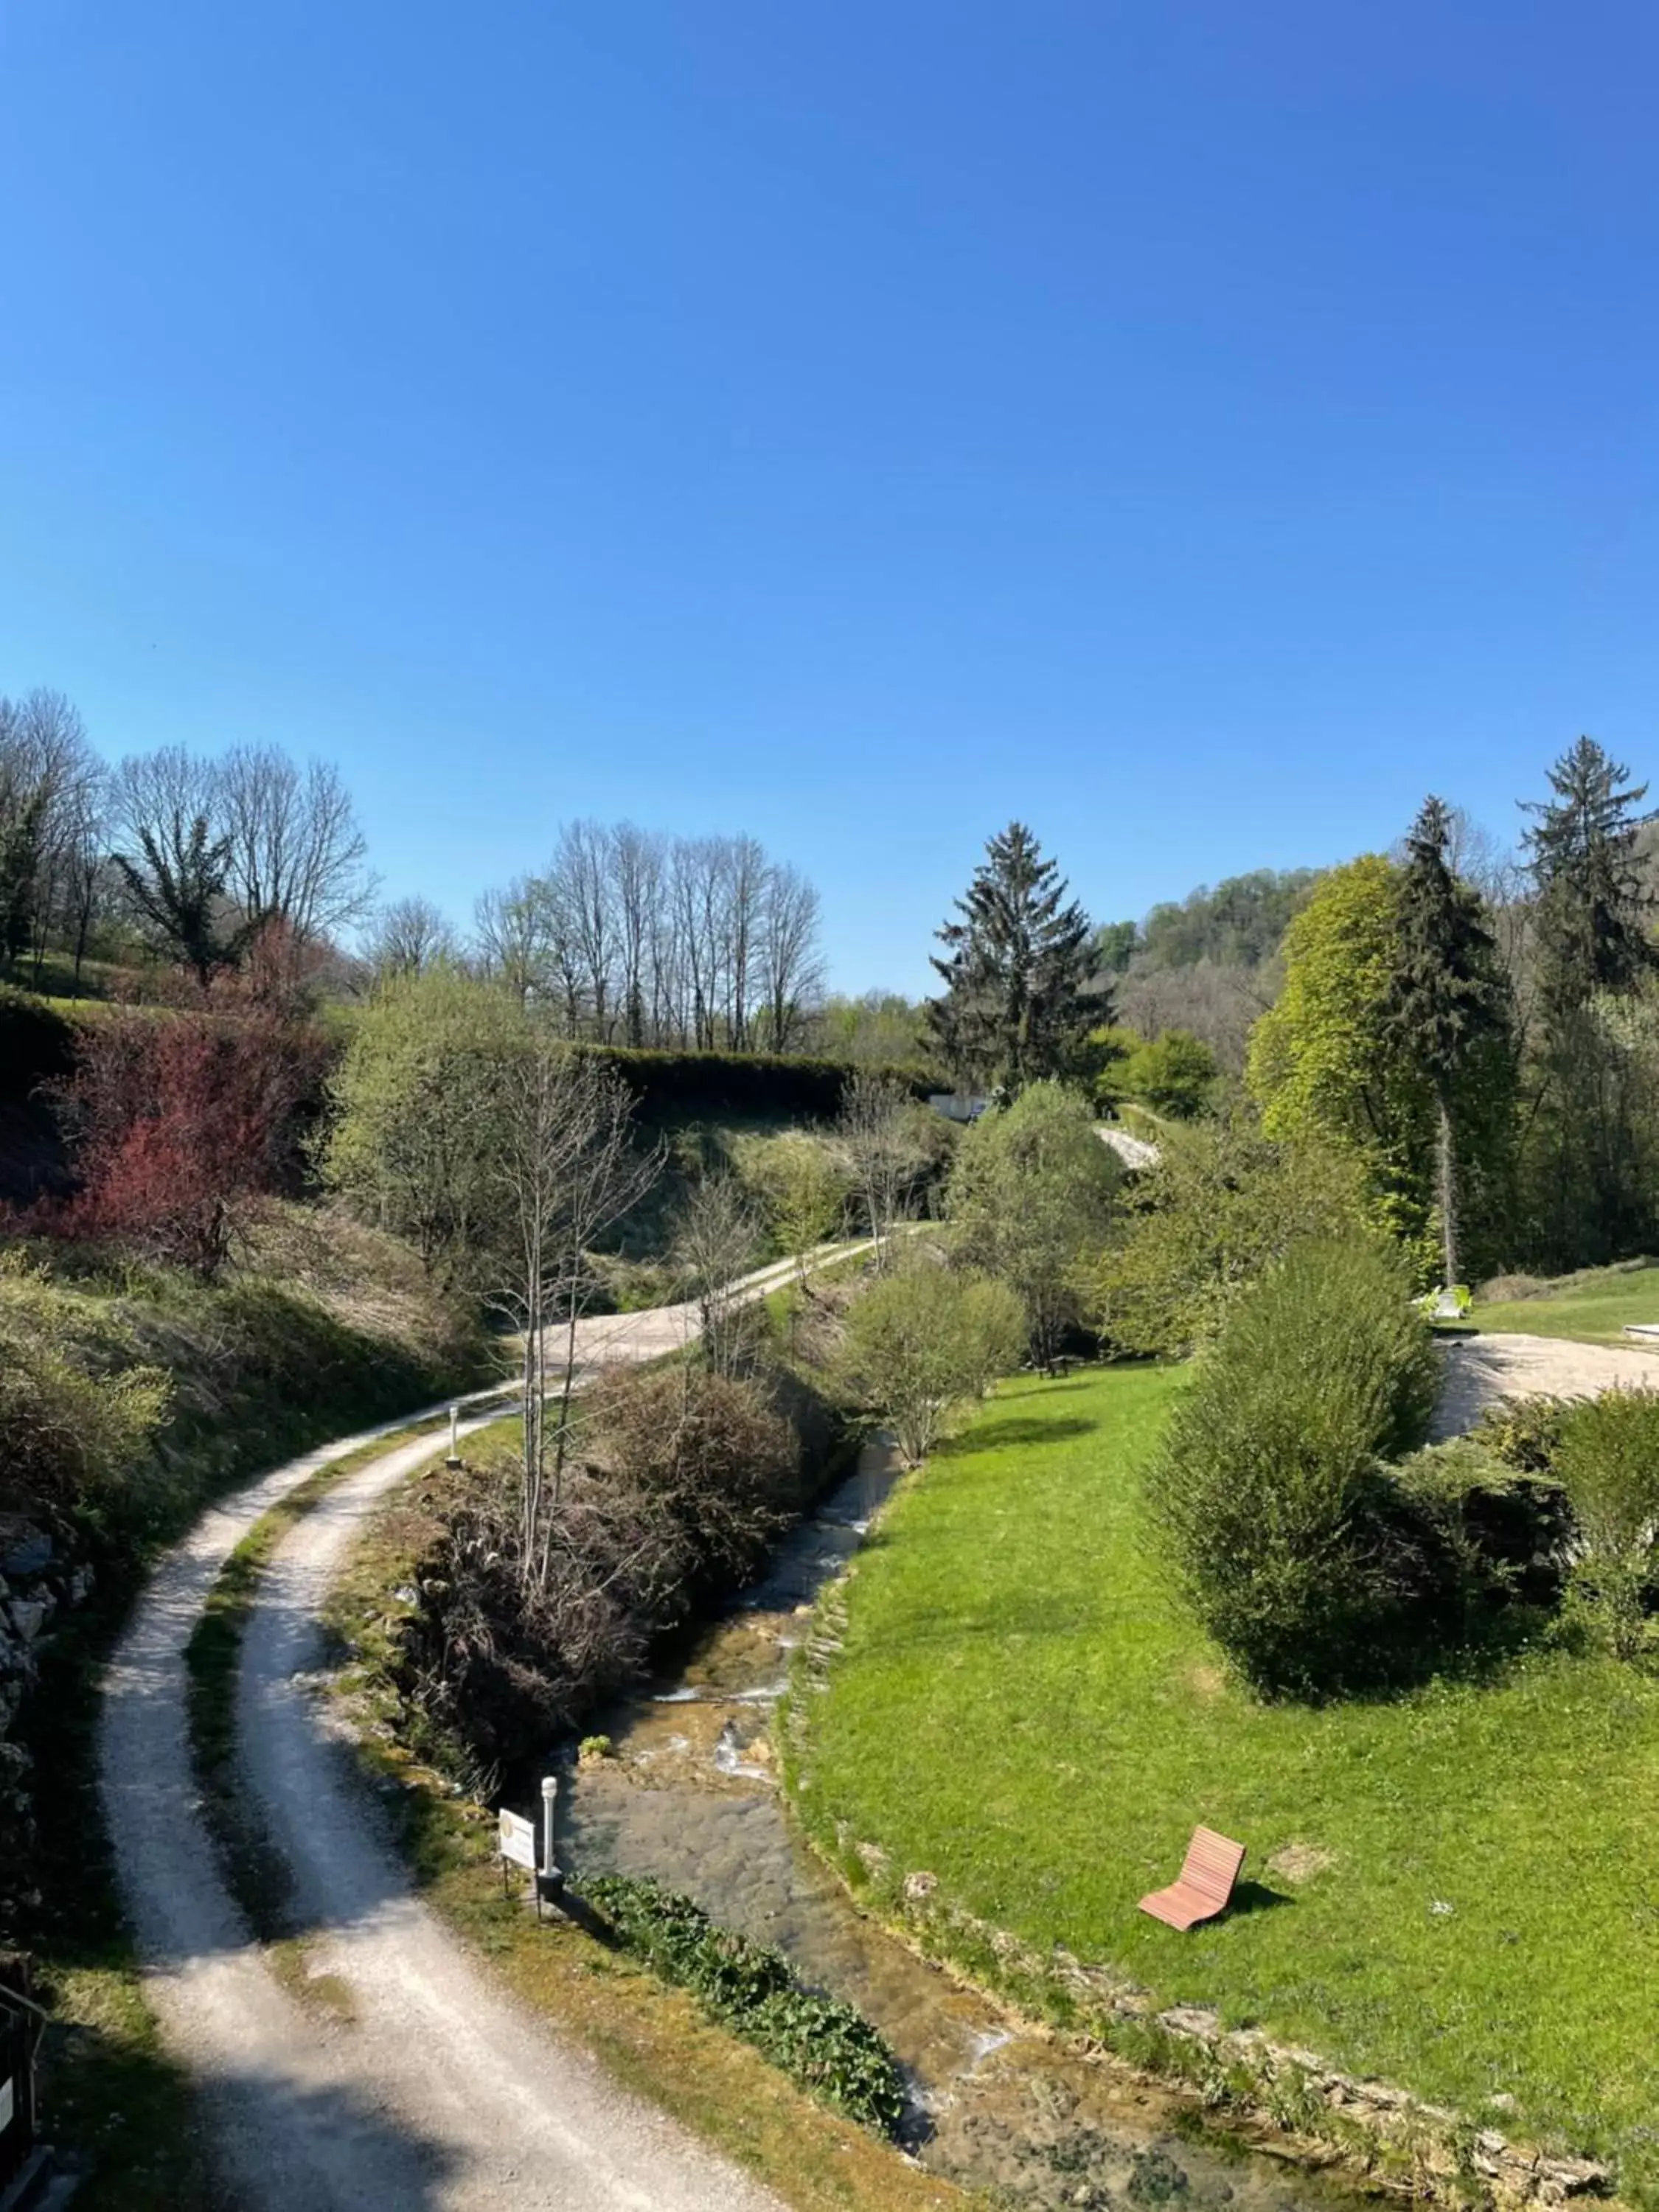
<path fill-rule="evenodd" d="M 894 1455 L 867 1447 L 684 1668 L 611 1719 L 617 1756 L 577 1767 L 560 1792 L 562 1863 L 577 1878 L 655 1876 L 726 1927 L 779 1944 L 810 1986 L 856 2004 L 907 2073 L 907 2150 L 993 2203 L 1352 2212 L 1354 2192 L 1332 2181 L 1186 2139 L 1170 2095 L 1022 2028 L 916 1958 L 794 1840 L 772 1772 L 772 1705 L 816 1593 L 894 1480 Z"/>

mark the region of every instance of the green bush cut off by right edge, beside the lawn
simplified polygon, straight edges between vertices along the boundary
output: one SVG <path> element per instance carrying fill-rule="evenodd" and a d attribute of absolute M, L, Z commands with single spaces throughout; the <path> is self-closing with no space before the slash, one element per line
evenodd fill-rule
<path fill-rule="evenodd" d="M 1555 1475 L 1577 1524 L 1575 1621 L 1621 1659 L 1655 1641 L 1659 1391 L 1610 1389 L 1562 1422 Z"/>

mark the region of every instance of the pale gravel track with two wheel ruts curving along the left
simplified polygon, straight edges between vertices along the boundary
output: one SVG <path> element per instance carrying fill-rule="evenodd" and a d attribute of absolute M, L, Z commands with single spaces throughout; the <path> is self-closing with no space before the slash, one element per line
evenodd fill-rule
<path fill-rule="evenodd" d="M 763 1296 L 787 1274 L 759 1270 L 745 1290 Z M 588 1321 L 577 1369 L 655 1358 L 695 1334 L 695 1307 Z M 498 1409 L 469 1411 L 462 1433 Z M 106 1677 L 100 1785 L 119 1882 L 164 2035 L 201 2081 L 226 2197 L 239 2212 L 781 2212 L 500 1991 L 434 1920 L 307 1694 L 330 1575 L 376 1500 L 440 1449 L 431 1436 L 369 1460 L 299 1522 L 243 1639 L 246 1781 L 294 1869 L 327 2011 L 290 1995 L 226 1891 L 190 1772 L 186 1644 L 248 1528 L 394 1427 L 405 1422 L 305 1453 L 206 1513 L 161 1562 Z"/>

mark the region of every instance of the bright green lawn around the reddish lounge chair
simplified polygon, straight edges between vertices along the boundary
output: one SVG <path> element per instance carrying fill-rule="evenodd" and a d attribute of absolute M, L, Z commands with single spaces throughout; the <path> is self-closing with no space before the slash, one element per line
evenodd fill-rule
<path fill-rule="evenodd" d="M 1537 1652 L 1495 1688 L 1254 1703 L 1141 1544 L 1181 1387 L 1009 1385 L 898 1493 L 812 1699 L 810 1823 L 1166 2002 L 1615 2154 L 1659 2203 L 1659 1681 Z M 1190 1936 L 1137 1913 L 1194 1820 L 1285 1902 Z M 1292 1882 L 1287 1845 L 1329 1863 Z M 1504 2090 L 1520 2112 L 1482 2110 Z"/>

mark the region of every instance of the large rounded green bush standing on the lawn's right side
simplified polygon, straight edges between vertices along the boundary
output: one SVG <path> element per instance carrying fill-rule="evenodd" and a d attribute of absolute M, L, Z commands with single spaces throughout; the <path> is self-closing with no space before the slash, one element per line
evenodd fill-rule
<path fill-rule="evenodd" d="M 1438 1363 L 1369 1239 L 1301 1243 L 1234 1305 L 1177 1407 L 1150 1511 L 1194 1610 L 1270 1694 L 1387 1672 L 1425 1582 L 1378 1460 L 1420 1444 Z"/>

